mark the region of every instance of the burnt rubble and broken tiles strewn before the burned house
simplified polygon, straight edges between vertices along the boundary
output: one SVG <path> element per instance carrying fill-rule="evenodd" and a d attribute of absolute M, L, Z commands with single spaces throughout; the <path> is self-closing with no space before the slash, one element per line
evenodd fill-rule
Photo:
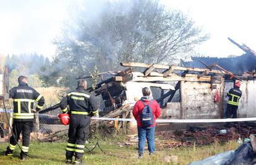
<path fill-rule="evenodd" d="M 179 146 L 191 147 L 194 145 L 209 145 L 215 142 L 228 142 L 238 138 L 248 138 L 250 133 L 255 134 L 254 123 L 243 122 L 233 127 L 201 128 L 190 127 L 189 130 L 175 132 L 158 132 L 157 136 L 162 139 L 158 143 L 161 148 L 176 148 Z"/>

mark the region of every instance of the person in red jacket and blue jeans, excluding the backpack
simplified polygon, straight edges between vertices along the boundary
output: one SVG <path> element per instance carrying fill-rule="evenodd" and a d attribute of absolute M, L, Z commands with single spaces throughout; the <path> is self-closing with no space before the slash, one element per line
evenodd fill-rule
<path fill-rule="evenodd" d="M 145 87 L 142 89 L 143 96 L 137 101 L 134 105 L 134 109 L 132 110 L 132 114 L 137 121 L 138 127 L 138 137 L 139 137 L 139 158 L 143 157 L 143 151 L 145 148 L 145 140 L 147 138 L 148 142 L 148 151 L 150 154 L 155 152 L 155 127 L 156 127 L 156 119 L 160 116 L 161 110 L 159 104 L 153 100 L 152 96 L 150 96 L 150 89 Z M 150 108 L 152 109 L 153 114 L 153 125 L 149 127 L 143 127 L 142 122 L 140 120 L 140 114 L 142 113 L 145 104 L 150 104 Z"/>

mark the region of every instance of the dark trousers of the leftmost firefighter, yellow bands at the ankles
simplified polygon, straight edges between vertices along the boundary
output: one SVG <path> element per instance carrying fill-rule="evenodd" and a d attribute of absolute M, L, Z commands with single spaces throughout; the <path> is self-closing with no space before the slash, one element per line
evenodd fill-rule
<path fill-rule="evenodd" d="M 17 142 L 20 138 L 20 133 L 22 133 L 22 151 L 28 153 L 30 133 L 33 130 L 33 122 L 14 122 L 12 124 L 13 135 L 10 138 L 10 144 L 7 146 L 7 153 L 12 154 L 15 150 Z"/>

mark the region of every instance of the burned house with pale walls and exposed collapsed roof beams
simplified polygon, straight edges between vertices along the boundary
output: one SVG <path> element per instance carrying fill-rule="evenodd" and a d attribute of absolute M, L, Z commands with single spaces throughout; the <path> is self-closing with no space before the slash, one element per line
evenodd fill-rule
<path fill-rule="evenodd" d="M 122 62 L 128 69 L 104 80 L 95 90 L 105 104 L 102 112 L 113 111 L 124 104 L 134 105 L 142 96 L 142 88 L 149 87 L 151 94 L 163 108 L 161 117 L 166 119 L 218 119 L 223 118 L 226 108 L 226 93 L 233 88 L 230 72 L 216 69 L 165 66 Z M 134 68 L 143 72 L 134 72 Z M 242 79 L 242 95 L 239 117 L 254 114 L 254 77 Z M 220 100 L 215 101 L 219 95 Z"/>

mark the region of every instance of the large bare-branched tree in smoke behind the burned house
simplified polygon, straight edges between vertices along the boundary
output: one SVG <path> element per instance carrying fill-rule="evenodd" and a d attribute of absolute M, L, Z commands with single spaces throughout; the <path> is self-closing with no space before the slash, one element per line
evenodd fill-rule
<path fill-rule="evenodd" d="M 106 2 L 96 14 L 75 10 L 55 41 L 56 59 L 82 72 L 117 69 L 121 61 L 173 64 L 207 39 L 190 17 L 157 0 Z"/>

